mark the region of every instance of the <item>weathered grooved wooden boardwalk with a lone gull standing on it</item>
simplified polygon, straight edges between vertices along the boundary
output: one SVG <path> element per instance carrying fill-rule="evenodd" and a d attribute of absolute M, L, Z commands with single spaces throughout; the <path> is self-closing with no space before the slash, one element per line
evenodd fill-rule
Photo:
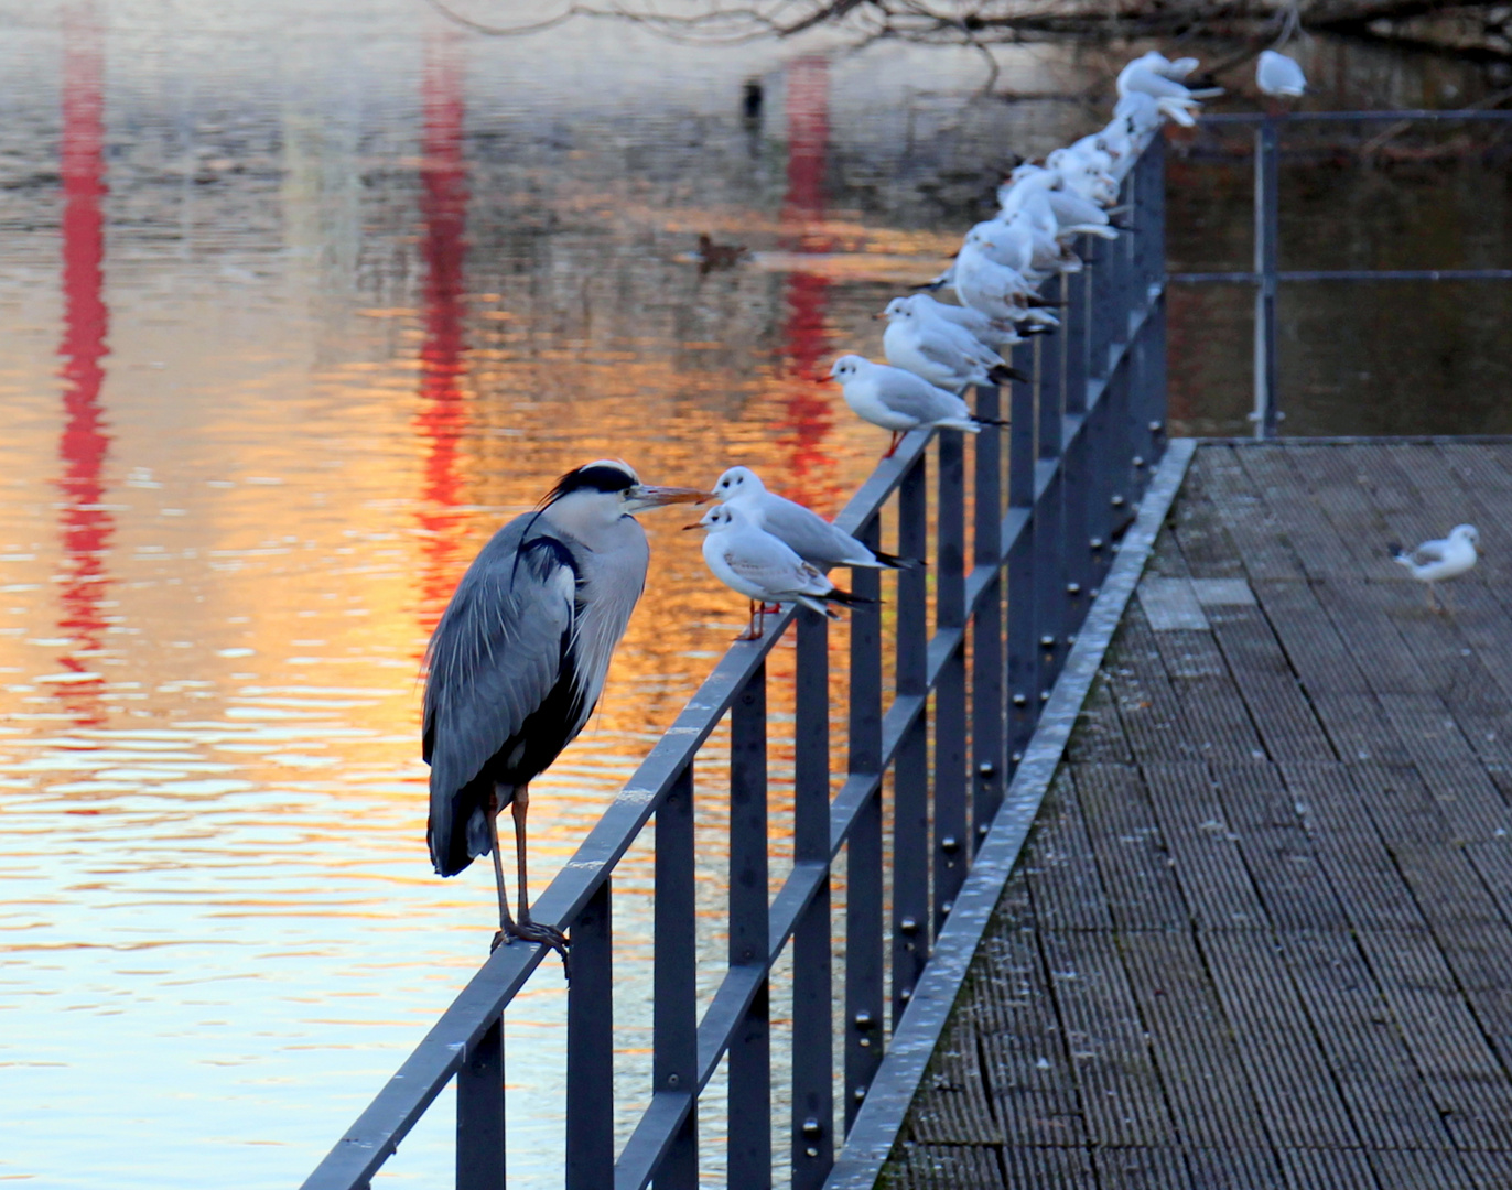
<path fill-rule="evenodd" d="M 1509 526 L 1512 445 L 1198 449 L 883 1185 L 1512 1187 Z"/>

